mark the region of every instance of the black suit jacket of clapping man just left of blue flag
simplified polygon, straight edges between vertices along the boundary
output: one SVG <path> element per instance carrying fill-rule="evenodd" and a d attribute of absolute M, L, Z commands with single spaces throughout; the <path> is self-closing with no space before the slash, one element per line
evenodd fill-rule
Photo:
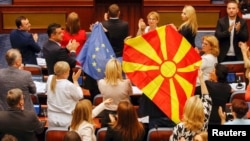
<path fill-rule="evenodd" d="M 57 61 L 66 61 L 69 63 L 70 68 L 76 66 L 76 53 L 69 51 L 66 48 L 62 48 L 59 43 L 48 40 L 43 46 L 43 56 L 46 60 L 48 73 L 54 74 L 54 65 Z M 72 81 L 72 69 L 70 72 L 69 80 Z"/>

